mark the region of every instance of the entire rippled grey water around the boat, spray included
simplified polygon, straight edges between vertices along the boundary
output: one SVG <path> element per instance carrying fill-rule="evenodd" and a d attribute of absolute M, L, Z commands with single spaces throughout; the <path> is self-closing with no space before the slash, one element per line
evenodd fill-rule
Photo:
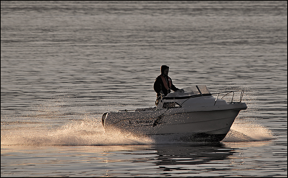
<path fill-rule="evenodd" d="M 104 134 L 161 65 L 245 90 L 223 141 Z M 2 176 L 286 177 L 287 1 L 1 1 Z"/>

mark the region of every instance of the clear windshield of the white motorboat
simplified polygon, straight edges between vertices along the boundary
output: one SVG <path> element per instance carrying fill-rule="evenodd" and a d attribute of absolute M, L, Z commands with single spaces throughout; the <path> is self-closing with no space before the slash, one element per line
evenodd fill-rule
<path fill-rule="evenodd" d="M 174 93 L 168 93 L 167 97 L 183 97 L 183 96 L 193 96 L 199 94 L 210 94 L 209 89 L 206 85 L 197 85 L 192 87 L 182 88 L 175 91 Z"/>

